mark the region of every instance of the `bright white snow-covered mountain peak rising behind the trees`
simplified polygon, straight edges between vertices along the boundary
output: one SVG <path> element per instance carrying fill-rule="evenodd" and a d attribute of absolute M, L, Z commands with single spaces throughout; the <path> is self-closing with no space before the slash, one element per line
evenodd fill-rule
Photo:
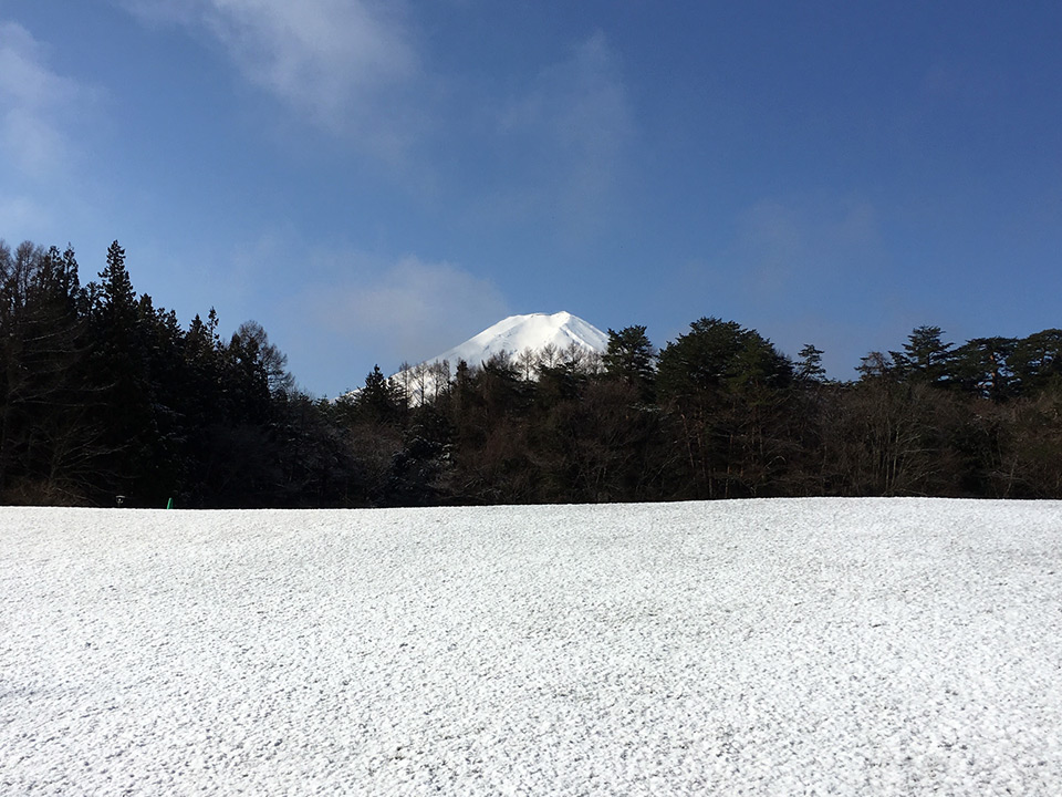
<path fill-rule="evenodd" d="M 464 360 L 475 366 L 502 352 L 509 352 L 516 356 L 527 349 L 541 352 L 550 345 L 563 352 L 572 344 L 591 352 L 604 353 L 608 348 L 608 335 L 592 323 L 569 312 L 552 315 L 548 313 L 510 315 L 426 362 L 446 360 L 451 368 L 455 368 L 459 361 Z"/>

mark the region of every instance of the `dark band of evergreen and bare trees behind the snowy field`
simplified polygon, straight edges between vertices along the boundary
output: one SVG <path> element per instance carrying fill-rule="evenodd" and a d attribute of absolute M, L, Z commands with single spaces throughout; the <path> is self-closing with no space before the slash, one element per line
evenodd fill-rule
<path fill-rule="evenodd" d="M 918 327 L 851 381 L 701 318 L 300 391 L 262 327 L 137 296 L 115 241 L 0 241 L 0 501 L 355 507 L 768 496 L 1062 498 L 1062 331 Z"/>

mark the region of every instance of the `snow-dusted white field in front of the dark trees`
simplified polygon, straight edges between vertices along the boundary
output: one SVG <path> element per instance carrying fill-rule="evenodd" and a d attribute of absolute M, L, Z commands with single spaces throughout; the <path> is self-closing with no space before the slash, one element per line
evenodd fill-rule
<path fill-rule="evenodd" d="M 0 794 L 1059 795 L 1062 504 L 0 509 Z"/>

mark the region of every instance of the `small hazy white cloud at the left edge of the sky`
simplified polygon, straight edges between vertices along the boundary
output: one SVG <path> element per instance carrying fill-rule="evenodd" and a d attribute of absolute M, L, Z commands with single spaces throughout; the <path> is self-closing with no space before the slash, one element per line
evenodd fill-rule
<path fill-rule="evenodd" d="M 24 177 L 56 174 L 66 165 L 70 142 L 63 117 L 88 92 L 51 71 L 44 48 L 22 25 L 0 22 L 0 153 Z"/>

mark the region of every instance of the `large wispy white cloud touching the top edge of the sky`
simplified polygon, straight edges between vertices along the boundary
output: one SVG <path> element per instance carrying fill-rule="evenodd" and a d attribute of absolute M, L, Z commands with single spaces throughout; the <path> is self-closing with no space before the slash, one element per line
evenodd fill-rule
<path fill-rule="evenodd" d="M 250 82 L 367 146 L 398 148 L 402 103 L 419 73 L 404 3 L 376 0 L 121 0 L 144 20 L 219 42 Z"/>

